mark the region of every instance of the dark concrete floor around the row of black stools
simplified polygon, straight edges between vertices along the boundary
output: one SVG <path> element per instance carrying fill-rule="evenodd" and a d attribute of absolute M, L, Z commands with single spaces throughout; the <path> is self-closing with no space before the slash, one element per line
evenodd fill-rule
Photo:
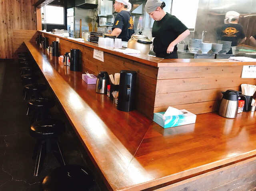
<path fill-rule="evenodd" d="M 42 79 L 40 83 L 44 83 Z M 46 174 L 60 166 L 54 155 L 48 153 L 41 173 L 37 177 L 33 175 L 32 153 L 36 140 L 28 132 L 31 116 L 26 116 L 27 101 L 22 99 L 22 90 L 19 64 L 12 59 L 0 59 L 0 191 L 37 191 Z M 51 109 L 51 114 L 64 120 L 67 126 L 58 138 L 66 163 L 87 166 L 58 105 Z M 100 189 L 94 183 L 91 190 Z"/>

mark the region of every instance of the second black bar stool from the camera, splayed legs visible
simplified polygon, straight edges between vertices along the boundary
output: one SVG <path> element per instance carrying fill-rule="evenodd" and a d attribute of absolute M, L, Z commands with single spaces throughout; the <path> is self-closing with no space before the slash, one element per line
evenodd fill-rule
<path fill-rule="evenodd" d="M 34 122 L 29 129 L 30 135 L 36 139 L 32 159 L 36 159 L 34 176 L 40 173 L 47 152 L 53 152 L 60 165 L 65 165 L 58 136 L 65 131 L 65 123 L 60 120 Z"/>

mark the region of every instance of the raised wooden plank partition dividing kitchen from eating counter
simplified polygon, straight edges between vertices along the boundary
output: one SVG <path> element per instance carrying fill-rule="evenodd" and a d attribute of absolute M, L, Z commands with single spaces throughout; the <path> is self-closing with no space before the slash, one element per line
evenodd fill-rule
<path fill-rule="evenodd" d="M 153 119 L 154 112 L 168 106 L 186 109 L 194 114 L 214 112 L 222 97 L 221 91 L 240 90 L 242 83 L 256 84 L 256 79 L 241 79 L 243 65 L 255 63 L 228 59 L 162 59 L 149 55 L 127 55 L 98 47 L 97 43 L 75 41 L 43 33 L 49 42 L 60 41 L 60 54 L 71 48 L 81 50 L 81 71 L 98 75 L 120 70 L 134 70 L 136 80 L 136 109 Z M 104 62 L 93 58 L 94 49 L 104 51 Z M 145 109 L 146 108 L 146 109 Z"/>

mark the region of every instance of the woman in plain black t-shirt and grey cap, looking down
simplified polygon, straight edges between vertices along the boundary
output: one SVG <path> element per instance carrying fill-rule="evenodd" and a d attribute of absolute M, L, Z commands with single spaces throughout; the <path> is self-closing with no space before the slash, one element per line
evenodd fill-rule
<path fill-rule="evenodd" d="M 160 0 L 148 0 L 146 11 L 154 19 L 152 37 L 157 57 L 178 58 L 177 44 L 189 34 L 188 28 L 175 16 L 164 12 L 165 3 Z"/>

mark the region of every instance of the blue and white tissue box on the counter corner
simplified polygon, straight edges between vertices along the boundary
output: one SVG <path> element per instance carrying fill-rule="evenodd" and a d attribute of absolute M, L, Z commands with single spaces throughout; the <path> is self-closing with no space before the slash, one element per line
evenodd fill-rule
<path fill-rule="evenodd" d="M 154 113 L 153 121 L 162 126 L 163 128 L 175 127 L 180 125 L 187 125 L 196 122 L 196 115 L 191 112 L 181 109 L 180 111 L 183 114 L 173 115 L 173 116 L 165 116 L 165 112 Z"/>

